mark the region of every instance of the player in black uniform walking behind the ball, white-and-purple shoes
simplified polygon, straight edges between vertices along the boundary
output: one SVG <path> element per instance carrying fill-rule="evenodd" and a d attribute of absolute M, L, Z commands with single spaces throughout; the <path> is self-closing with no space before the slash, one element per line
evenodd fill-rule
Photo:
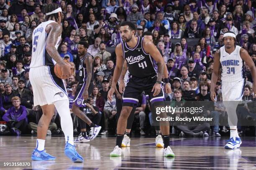
<path fill-rule="evenodd" d="M 87 53 L 89 45 L 85 41 L 80 41 L 77 46 L 78 55 L 80 57 L 79 63 L 79 82 L 74 90 L 74 103 L 72 105 L 72 112 L 79 117 L 79 124 L 81 126 L 81 134 L 74 142 L 83 143 L 94 139 L 100 132 L 101 127 L 95 125 L 83 112 L 84 100 L 87 100 L 89 94 L 93 90 L 93 57 Z M 92 132 L 92 136 L 88 137 L 86 133 L 86 122 Z"/>

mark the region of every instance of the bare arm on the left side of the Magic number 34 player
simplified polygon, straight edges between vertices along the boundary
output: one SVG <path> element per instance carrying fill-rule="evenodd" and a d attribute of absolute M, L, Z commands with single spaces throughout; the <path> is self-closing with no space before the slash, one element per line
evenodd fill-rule
<path fill-rule="evenodd" d="M 215 55 L 214 55 L 211 89 L 210 89 L 212 101 L 215 101 L 215 97 L 216 97 L 214 88 L 218 80 L 219 70 L 220 70 L 220 49 L 217 52 L 215 52 Z"/>

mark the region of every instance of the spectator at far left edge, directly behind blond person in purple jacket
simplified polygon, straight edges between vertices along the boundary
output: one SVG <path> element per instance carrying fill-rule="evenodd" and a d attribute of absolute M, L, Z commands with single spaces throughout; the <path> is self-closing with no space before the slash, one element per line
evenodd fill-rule
<path fill-rule="evenodd" d="M 7 110 L 13 106 L 12 104 L 12 97 L 14 97 L 12 85 L 9 82 L 6 82 L 5 85 L 5 92 L 1 95 L 0 100 L 0 112 L 5 113 Z"/>

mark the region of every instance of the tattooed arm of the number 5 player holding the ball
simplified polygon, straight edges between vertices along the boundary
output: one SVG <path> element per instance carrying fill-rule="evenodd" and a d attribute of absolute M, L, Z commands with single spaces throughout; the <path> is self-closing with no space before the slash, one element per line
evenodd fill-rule
<path fill-rule="evenodd" d="M 48 26 L 48 25 L 47 25 Z M 47 27 L 46 27 L 47 29 Z M 56 61 L 58 64 L 63 62 L 62 57 L 59 55 L 59 52 L 55 48 L 56 42 L 58 40 L 58 37 L 61 35 L 62 27 L 61 25 L 51 25 L 49 24 L 50 32 L 47 37 L 46 42 L 46 50 L 48 54 Z"/>

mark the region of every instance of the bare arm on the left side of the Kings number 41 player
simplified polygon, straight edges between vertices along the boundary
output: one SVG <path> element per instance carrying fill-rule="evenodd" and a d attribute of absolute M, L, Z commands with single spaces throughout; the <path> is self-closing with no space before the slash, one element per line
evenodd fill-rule
<path fill-rule="evenodd" d="M 120 77 L 122 67 L 123 67 L 124 59 L 123 59 L 123 49 L 122 49 L 121 43 L 115 47 L 115 54 L 116 54 L 116 65 L 115 65 L 112 85 L 111 85 L 110 90 L 108 91 L 108 99 L 110 101 L 112 100 L 112 96 L 115 92 L 115 86 L 116 86 L 116 83 L 118 82 L 118 79 Z"/>

